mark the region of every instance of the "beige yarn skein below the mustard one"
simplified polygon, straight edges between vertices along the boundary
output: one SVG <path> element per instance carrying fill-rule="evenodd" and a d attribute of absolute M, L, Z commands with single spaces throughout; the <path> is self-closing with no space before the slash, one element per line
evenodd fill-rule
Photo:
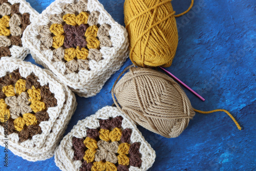
<path fill-rule="evenodd" d="M 167 138 L 178 137 L 195 116 L 179 84 L 153 69 L 131 68 L 112 93 L 120 111 L 145 129 Z"/>

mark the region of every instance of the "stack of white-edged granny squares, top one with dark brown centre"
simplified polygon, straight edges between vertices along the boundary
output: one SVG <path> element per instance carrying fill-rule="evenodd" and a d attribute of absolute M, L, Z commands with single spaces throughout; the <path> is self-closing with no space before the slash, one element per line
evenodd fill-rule
<path fill-rule="evenodd" d="M 128 52 L 127 32 L 96 0 L 57 0 L 24 32 L 35 61 L 79 96 L 96 95 Z"/>

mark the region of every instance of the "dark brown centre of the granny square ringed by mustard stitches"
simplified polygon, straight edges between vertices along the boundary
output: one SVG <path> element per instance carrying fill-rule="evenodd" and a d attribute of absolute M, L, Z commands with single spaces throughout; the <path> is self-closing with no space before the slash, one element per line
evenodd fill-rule
<path fill-rule="evenodd" d="M 84 48 L 87 45 L 86 37 L 84 37 L 84 33 L 86 33 L 88 26 L 81 24 L 80 26 L 71 26 L 64 25 L 63 29 L 66 33 L 64 40 L 65 48 L 76 48 L 79 46 L 80 48 Z"/>

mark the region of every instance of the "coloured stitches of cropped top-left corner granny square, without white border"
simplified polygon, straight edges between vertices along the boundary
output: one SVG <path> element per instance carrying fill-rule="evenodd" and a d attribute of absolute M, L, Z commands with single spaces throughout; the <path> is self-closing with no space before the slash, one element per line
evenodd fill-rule
<path fill-rule="evenodd" d="M 11 56 L 12 46 L 22 47 L 24 30 L 30 25 L 30 14 L 19 12 L 20 3 L 11 5 L 7 0 L 0 1 L 0 58 Z"/>

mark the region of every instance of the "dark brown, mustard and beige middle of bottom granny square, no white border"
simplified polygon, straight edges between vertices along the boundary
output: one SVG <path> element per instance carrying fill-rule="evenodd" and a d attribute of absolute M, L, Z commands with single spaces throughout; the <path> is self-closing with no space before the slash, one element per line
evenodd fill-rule
<path fill-rule="evenodd" d="M 130 141 L 131 129 L 122 129 L 122 117 L 100 120 L 97 129 L 88 129 L 87 137 L 73 137 L 74 160 L 82 170 L 129 170 L 141 166 L 140 143 Z"/>

